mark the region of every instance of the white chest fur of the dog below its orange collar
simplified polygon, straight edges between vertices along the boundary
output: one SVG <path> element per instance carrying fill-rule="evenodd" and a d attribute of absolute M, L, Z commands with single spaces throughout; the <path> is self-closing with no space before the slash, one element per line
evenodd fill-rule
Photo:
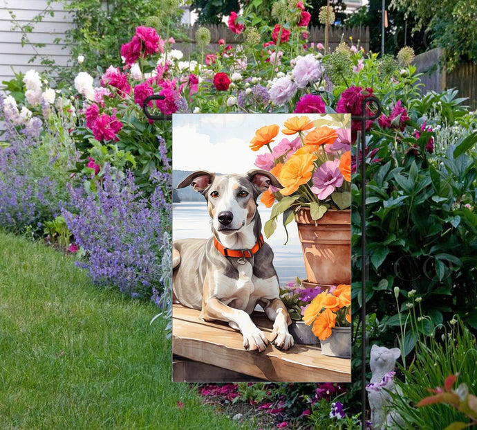
<path fill-rule="evenodd" d="M 245 310 L 250 314 L 260 300 L 271 300 L 279 297 L 277 277 L 261 279 L 253 275 L 250 262 L 238 267 L 238 279 L 225 276 L 220 271 L 214 272 L 214 296 L 221 302 Z"/>

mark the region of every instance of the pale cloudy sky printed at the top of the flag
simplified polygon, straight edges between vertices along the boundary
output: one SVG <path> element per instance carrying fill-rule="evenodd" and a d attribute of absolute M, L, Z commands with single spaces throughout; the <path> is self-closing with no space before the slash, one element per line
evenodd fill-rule
<path fill-rule="evenodd" d="M 277 124 L 280 132 L 273 145 L 288 136 L 281 133 L 283 123 L 302 114 L 174 114 L 172 116 L 172 166 L 174 170 L 208 170 L 216 173 L 244 174 L 256 168 L 256 156 L 249 144 L 263 125 Z M 320 114 L 306 114 L 310 119 Z"/>

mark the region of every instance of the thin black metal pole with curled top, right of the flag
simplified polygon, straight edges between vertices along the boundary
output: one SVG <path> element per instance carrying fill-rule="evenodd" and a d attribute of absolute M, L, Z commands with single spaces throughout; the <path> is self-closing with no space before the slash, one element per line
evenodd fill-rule
<path fill-rule="evenodd" d="M 375 113 L 366 116 L 366 105 L 375 105 Z M 362 101 L 362 114 L 352 116 L 351 119 L 361 121 L 361 427 L 366 430 L 366 278 L 368 261 L 366 257 L 366 121 L 375 120 L 382 111 L 380 100 L 370 96 Z M 359 149 L 359 148 L 358 148 Z M 358 151 L 359 152 L 359 151 Z M 359 163 L 359 156 L 356 154 Z"/>

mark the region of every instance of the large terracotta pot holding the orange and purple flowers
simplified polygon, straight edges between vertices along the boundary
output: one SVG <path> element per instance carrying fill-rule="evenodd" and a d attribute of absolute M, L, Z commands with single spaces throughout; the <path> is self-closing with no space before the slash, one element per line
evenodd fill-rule
<path fill-rule="evenodd" d="M 314 221 L 309 208 L 295 214 L 310 283 L 351 283 L 351 211 L 327 210 Z"/>

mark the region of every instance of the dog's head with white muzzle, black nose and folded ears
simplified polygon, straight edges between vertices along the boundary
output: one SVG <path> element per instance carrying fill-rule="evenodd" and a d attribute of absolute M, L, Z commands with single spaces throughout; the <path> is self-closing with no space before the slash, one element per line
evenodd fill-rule
<path fill-rule="evenodd" d="M 256 213 L 256 199 L 270 188 L 283 188 L 266 170 L 249 170 L 247 174 L 223 174 L 198 170 L 189 174 L 177 188 L 191 185 L 207 200 L 215 231 L 225 235 L 237 233 L 249 224 Z"/>

